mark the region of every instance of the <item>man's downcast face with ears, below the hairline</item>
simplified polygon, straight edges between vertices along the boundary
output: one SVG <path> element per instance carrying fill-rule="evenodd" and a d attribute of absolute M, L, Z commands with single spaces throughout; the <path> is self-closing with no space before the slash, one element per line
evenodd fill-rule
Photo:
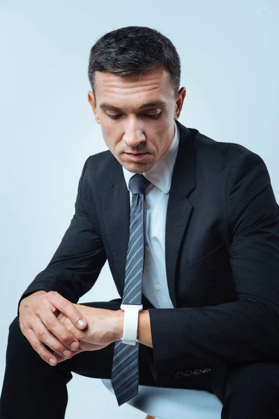
<path fill-rule="evenodd" d="M 89 91 L 88 101 L 107 147 L 130 172 L 148 172 L 172 144 L 185 87 L 175 97 L 163 67 L 141 78 L 97 71 L 95 96 Z"/>

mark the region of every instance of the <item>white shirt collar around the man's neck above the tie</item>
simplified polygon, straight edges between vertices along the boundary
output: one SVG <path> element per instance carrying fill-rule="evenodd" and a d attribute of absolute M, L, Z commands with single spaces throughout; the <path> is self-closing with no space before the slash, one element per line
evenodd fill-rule
<path fill-rule="evenodd" d="M 172 183 L 172 172 L 174 171 L 174 163 L 176 161 L 176 156 L 179 149 L 179 128 L 175 122 L 174 127 L 175 131 L 172 144 L 169 146 L 160 160 L 156 161 L 155 165 L 148 172 L 143 173 L 146 179 L 148 179 L 152 184 L 156 185 L 161 191 L 167 194 L 169 193 L 169 189 Z M 135 175 L 135 173 L 130 172 L 124 168 L 124 166 L 122 166 L 122 168 L 128 191 L 130 191 L 130 178 Z"/>

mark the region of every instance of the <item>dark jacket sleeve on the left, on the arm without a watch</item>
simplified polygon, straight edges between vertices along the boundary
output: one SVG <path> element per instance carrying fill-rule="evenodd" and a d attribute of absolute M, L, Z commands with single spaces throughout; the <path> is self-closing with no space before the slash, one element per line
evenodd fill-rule
<path fill-rule="evenodd" d="M 28 288 L 20 297 L 19 305 L 24 297 L 39 290 L 57 291 L 71 302 L 77 303 L 79 298 L 95 284 L 107 256 L 103 241 L 96 229 L 96 223 L 91 220 L 84 207 L 84 194 L 89 190 L 86 185 L 86 166 L 90 157 L 84 163 L 82 175 L 77 187 L 75 214 L 70 226 L 63 235 L 58 249 L 45 270 L 38 273 Z M 92 209 L 95 212 L 95 209 Z"/>

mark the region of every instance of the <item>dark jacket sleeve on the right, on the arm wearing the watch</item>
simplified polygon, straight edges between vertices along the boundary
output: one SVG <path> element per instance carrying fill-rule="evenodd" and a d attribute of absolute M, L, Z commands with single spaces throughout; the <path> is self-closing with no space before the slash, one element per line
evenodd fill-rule
<path fill-rule="evenodd" d="M 176 381 L 179 369 L 279 361 L 279 215 L 260 156 L 248 150 L 236 159 L 226 193 L 236 300 L 149 309 L 159 386 Z"/>

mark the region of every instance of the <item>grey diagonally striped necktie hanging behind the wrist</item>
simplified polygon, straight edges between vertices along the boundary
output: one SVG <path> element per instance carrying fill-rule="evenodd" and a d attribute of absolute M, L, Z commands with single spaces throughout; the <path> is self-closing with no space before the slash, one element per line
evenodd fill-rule
<path fill-rule="evenodd" d="M 141 304 L 142 276 L 144 270 L 146 204 L 145 189 L 150 182 L 141 173 L 130 178 L 132 202 L 130 209 L 130 237 L 126 259 L 126 274 L 122 304 Z M 114 343 L 112 360 L 112 388 L 119 406 L 138 393 L 139 386 L 139 342 Z"/>

